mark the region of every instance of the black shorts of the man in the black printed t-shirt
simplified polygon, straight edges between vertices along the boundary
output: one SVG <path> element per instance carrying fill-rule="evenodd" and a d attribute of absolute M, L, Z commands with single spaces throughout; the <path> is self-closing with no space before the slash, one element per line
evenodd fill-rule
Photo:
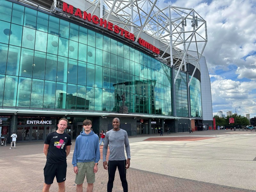
<path fill-rule="evenodd" d="M 58 183 L 66 180 L 67 162 L 63 164 L 53 164 L 46 162 L 44 166 L 44 182 L 48 185 L 53 183 L 54 177 Z"/>

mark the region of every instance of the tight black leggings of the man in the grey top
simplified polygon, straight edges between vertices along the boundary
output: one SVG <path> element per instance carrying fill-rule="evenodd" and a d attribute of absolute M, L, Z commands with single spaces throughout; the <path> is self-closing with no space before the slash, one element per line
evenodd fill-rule
<path fill-rule="evenodd" d="M 115 180 L 116 167 L 119 172 L 120 180 L 122 182 L 122 186 L 124 192 L 128 192 L 128 183 L 126 180 L 126 169 L 125 169 L 126 160 L 121 161 L 108 161 L 108 192 L 112 192 L 113 182 Z"/>

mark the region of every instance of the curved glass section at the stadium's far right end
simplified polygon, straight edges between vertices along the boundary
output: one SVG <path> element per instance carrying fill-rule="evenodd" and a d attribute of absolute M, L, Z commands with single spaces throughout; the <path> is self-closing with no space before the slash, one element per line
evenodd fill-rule
<path fill-rule="evenodd" d="M 191 76 L 189 76 L 189 79 L 191 79 Z M 202 117 L 201 83 L 195 77 L 190 82 L 189 92 L 191 117 Z"/>

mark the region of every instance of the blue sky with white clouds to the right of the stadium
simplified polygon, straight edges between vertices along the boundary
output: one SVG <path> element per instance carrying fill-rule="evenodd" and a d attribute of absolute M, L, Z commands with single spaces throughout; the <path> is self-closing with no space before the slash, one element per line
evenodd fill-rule
<path fill-rule="evenodd" d="M 256 0 L 159 0 L 193 8 L 207 22 L 212 111 L 256 116 Z M 240 108 L 236 108 L 240 107 Z"/>

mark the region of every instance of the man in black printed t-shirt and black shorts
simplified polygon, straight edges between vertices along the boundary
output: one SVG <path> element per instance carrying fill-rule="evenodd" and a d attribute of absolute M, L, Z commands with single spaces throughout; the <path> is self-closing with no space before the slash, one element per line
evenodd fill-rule
<path fill-rule="evenodd" d="M 60 119 L 58 130 L 49 133 L 44 141 L 46 164 L 44 167 L 43 192 L 49 192 L 55 176 L 59 185 L 59 192 L 65 191 L 67 156 L 71 148 L 71 137 L 64 132 L 67 126 L 68 120 Z"/>

